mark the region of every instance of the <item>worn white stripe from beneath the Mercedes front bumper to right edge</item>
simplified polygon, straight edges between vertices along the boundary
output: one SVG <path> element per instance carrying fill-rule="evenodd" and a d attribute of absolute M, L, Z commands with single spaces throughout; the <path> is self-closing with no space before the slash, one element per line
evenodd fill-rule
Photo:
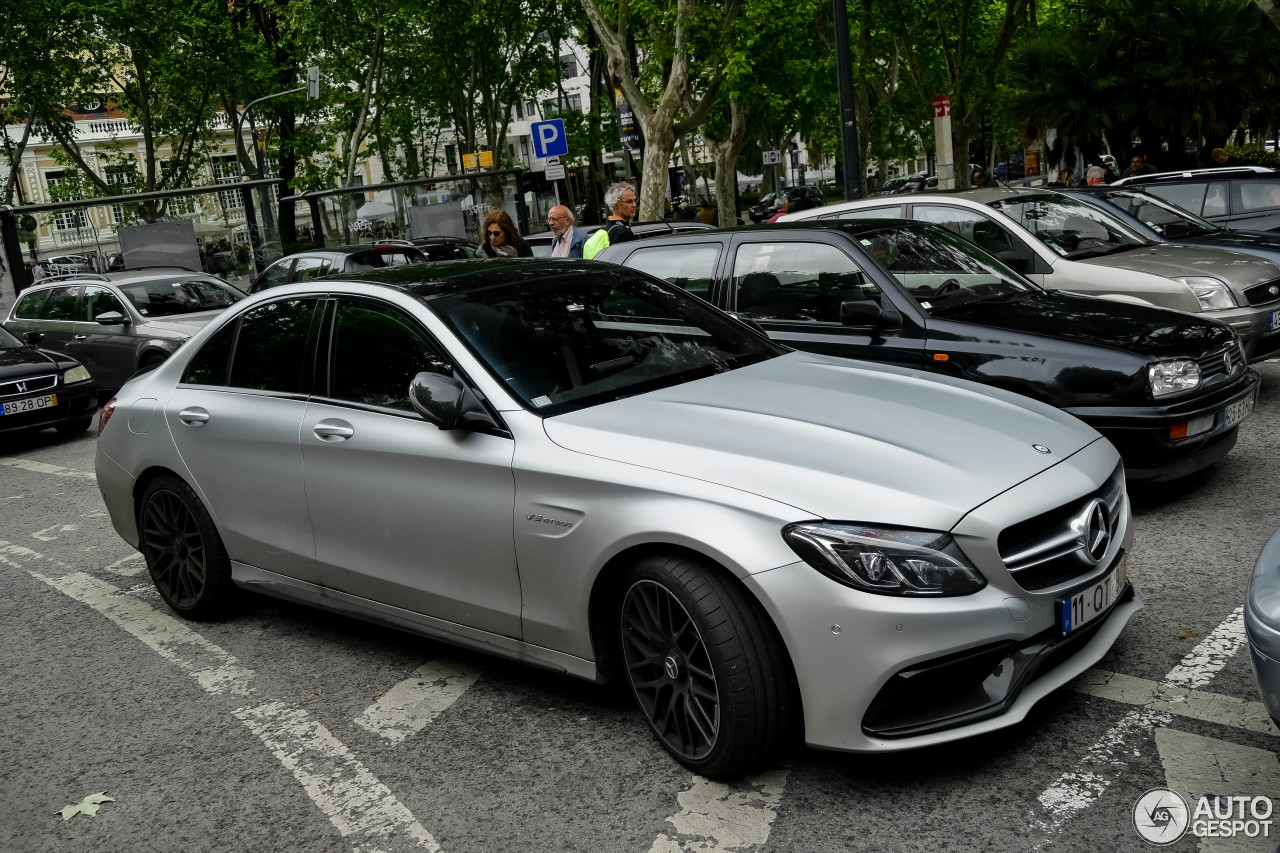
<path fill-rule="evenodd" d="M 1070 686 L 1080 693 L 1114 702 L 1142 704 L 1169 711 L 1180 717 L 1280 735 L 1280 729 L 1276 729 L 1271 715 L 1267 713 L 1267 707 L 1261 702 L 1247 702 L 1221 693 L 1161 685 L 1149 679 L 1138 679 L 1106 670 L 1089 670 L 1075 679 Z"/>

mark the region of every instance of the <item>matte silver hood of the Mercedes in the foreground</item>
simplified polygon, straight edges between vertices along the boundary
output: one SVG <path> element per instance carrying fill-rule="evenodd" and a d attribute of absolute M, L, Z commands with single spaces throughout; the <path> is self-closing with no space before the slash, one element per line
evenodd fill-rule
<path fill-rule="evenodd" d="M 1100 439 L 1012 393 L 801 352 L 550 418 L 544 429 L 564 448 L 804 516 L 933 530 Z"/>

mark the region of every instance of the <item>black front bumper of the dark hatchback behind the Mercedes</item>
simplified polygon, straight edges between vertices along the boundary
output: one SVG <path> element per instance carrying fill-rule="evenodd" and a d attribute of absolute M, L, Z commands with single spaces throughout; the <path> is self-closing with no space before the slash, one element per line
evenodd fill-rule
<path fill-rule="evenodd" d="M 1124 459 L 1129 480 L 1160 483 L 1187 476 L 1220 462 L 1235 447 L 1236 428 L 1228 426 L 1229 406 L 1257 401 L 1261 377 L 1247 370 L 1228 388 L 1204 397 L 1139 409 L 1078 407 L 1066 411 L 1102 433 Z M 1170 438 L 1170 428 L 1213 418 L 1213 426 L 1189 438 Z"/>

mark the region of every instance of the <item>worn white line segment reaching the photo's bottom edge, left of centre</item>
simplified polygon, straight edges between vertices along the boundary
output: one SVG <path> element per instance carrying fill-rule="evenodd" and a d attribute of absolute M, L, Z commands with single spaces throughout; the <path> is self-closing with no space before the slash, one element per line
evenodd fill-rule
<path fill-rule="evenodd" d="M 381 850 L 383 843 L 412 839 L 439 850 L 413 815 L 306 711 L 269 702 L 234 712 L 297 779 L 343 836 L 358 836 L 355 849 Z"/>

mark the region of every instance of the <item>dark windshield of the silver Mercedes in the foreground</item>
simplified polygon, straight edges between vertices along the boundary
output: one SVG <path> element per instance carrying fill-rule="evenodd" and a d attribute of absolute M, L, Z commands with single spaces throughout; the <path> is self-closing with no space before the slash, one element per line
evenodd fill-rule
<path fill-rule="evenodd" d="M 625 270 L 493 287 L 428 305 L 517 400 L 544 416 L 785 352 L 705 302 Z"/>

